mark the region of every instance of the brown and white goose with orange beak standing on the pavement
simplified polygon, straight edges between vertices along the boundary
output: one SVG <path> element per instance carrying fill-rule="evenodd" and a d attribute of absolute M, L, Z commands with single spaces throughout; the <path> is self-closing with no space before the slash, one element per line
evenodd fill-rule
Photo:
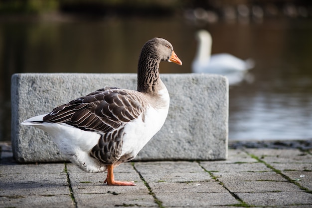
<path fill-rule="evenodd" d="M 155 37 L 141 50 L 137 90 L 105 87 L 21 125 L 50 134 L 60 151 L 83 171 L 107 171 L 104 184 L 136 186 L 133 181 L 115 181 L 114 168 L 134 159 L 167 117 L 169 94 L 159 77 L 160 61 L 182 65 L 171 43 Z"/>

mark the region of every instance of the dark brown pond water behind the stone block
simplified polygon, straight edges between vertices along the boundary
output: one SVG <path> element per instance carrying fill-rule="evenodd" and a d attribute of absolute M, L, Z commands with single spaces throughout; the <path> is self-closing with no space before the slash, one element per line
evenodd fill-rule
<path fill-rule="evenodd" d="M 312 20 L 195 25 L 183 18 L 0 22 L 0 141 L 10 140 L 10 77 L 21 72 L 136 73 L 143 44 L 169 40 L 183 65 L 161 73 L 190 73 L 194 33 L 210 31 L 212 53 L 253 58 L 250 81 L 230 87 L 229 139 L 312 138 Z"/>

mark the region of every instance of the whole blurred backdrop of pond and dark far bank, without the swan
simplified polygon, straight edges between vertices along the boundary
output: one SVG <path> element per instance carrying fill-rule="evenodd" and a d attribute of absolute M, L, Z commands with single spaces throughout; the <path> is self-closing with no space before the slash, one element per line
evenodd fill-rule
<path fill-rule="evenodd" d="M 229 140 L 312 138 L 311 0 L 0 0 L 0 141 L 13 73 L 136 73 L 152 37 L 183 62 L 161 73 L 191 73 L 199 29 L 255 63 L 230 85 Z"/>

